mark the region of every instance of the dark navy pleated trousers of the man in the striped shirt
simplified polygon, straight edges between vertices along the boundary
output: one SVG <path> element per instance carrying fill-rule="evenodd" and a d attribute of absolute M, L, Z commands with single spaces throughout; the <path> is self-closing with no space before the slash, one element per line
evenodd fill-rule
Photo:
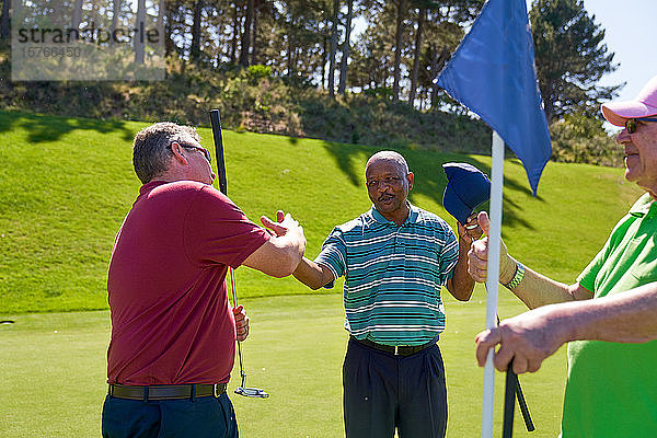
<path fill-rule="evenodd" d="M 347 438 L 443 438 L 445 367 L 438 345 L 395 356 L 349 339 L 343 365 Z"/>

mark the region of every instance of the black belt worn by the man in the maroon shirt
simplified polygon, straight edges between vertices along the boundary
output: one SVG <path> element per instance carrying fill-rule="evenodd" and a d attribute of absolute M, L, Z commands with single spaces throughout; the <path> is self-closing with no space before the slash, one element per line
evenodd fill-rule
<path fill-rule="evenodd" d="M 141 400 L 181 400 L 203 396 L 220 396 L 226 392 L 226 383 L 216 384 L 154 384 L 150 387 L 132 387 L 110 384 L 110 396 L 117 399 Z"/>

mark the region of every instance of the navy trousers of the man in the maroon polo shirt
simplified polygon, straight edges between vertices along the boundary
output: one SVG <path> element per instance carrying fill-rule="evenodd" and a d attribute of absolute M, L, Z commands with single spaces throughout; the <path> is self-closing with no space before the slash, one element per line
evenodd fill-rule
<path fill-rule="evenodd" d="M 103 438 L 238 436 L 235 412 L 227 394 L 148 403 L 107 395 L 103 405 Z"/>

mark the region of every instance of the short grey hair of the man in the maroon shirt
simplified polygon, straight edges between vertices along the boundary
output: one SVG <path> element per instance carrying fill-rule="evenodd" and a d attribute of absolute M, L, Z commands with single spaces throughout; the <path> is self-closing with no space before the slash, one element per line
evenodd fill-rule
<path fill-rule="evenodd" d="M 173 155 L 171 143 L 200 141 L 200 136 L 191 126 L 162 122 L 141 129 L 132 143 L 132 165 L 139 180 L 146 184 L 166 172 Z"/>

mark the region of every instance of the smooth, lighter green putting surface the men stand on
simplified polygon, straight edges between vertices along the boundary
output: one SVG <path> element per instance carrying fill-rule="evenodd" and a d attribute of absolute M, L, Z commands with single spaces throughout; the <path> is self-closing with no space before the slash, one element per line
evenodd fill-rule
<path fill-rule="evenodd" d="M 474 335 L 483 325 L 480 288 L 470 302 L 446 299 L 448 328 L 442 349 L 449 396 L 448 437 L 480 435 L 482 369 L 475 366 Z M 339 295 L 288 296 L 244 300 L 252 333 L 243 344 L 247 385 L 263 387 L 267 400 L 232 395 L 244 438 L 344 436 L 342 360 L 346 334 Z M 500 315 L 522 310 L 508 293 Z M 22 314 L 0 325 L 0 436 L 81 438 L 100 436 L 106 391 L 108 312 Z M 528 434 L 516 412 L 515 437 L 558 434 L 565 380 L 561 349 L 541 370 L 521 377 L 537 431 Z M 239 384 L 235 366 L 229 385 Z M 504 376 L 496 377 L 496 429 L 502 430 Z"/>

